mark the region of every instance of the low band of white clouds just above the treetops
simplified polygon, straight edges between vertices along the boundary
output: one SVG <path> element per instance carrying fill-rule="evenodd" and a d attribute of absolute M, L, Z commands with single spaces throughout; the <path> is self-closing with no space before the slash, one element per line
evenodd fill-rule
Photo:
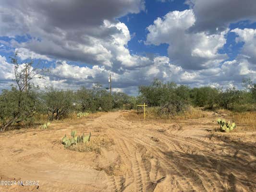
<path fill-rule="evenodd" d="M 0 57 L 0 81 L 10 82 L 14 79 L 14 66 L 4 57 Z M 151 60 L 150 65 L 124 70 L 122 74 L 112 72 L 104 66 L 82 67 L 66 61 L 57 61 L 45 79 L 34 79 L 33 83 L 43 91 L 45 88 L 77 90 L 80 86 L 91 88 L 93 84 L 100 83 L 108 87 L 108 77 L 111 73 L 112 87 L 116 91 L 137 95 L 139 85 L 148 85 L 154 78 L 164 82 L 176 82 L 195 86 L 223 86 L 229 84 L 240 85 L 243 78 L 250 77 L 256 81 L 256 69 L 246 59 L 225 61 L 220 67 L 203 70 L 184 70 L 182 67 L 171 64 L 168 57 L 158 56 Z M 5 85 L 5 86 L 3 86 Z M 1 84 L 7 88 L 9 84 Z"/>

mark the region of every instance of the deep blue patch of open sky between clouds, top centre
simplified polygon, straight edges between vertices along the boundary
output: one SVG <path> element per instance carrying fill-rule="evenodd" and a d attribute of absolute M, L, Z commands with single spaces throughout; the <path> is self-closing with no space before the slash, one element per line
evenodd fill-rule
<path fill-rule="evenodd" d="M 171 11 L 183 11 L 189 9 L 189 6 L 184 4 L 183 0 L 161 2 L 157 0 L 146 1 L 146 11 L 138 14 L 128 14 L 119 20 L 126 24 L 130 33 L 134 34 L 134 38 L 128 42 L 128 47 L 133 54 L 156 54 L 168 56 L 167 44 L 159 46 L 147 45 L 143 43 L 146 41 L 146 34 L 148 31 L 146 27 L 152 24 L 156 18 L 163 17 Z M 139 41 L 142 41 L 139 43 Z"/>

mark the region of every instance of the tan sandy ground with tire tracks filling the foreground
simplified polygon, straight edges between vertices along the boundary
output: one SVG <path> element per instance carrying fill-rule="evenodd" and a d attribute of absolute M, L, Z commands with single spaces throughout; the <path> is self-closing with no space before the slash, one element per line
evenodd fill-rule
<path fill-rule="evenodd" d="M 256 132 L 212 134 L 223 116 L 214 112 L 179 123 L 127 113 L 0 133 L 0 180 L 39 184 L 0 192 L 256 192 Z M 114 145 L 101 154 L 64 149 L 71 130 L 108 135 Z"/>

